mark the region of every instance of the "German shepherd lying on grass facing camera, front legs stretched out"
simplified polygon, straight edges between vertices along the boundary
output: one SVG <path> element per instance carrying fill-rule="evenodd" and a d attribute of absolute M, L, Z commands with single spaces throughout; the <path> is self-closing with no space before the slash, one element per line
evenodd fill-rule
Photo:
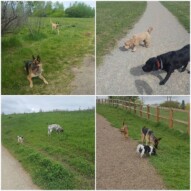
<path fill-rule="evenodd" d="M 45 84 L 48 84 L 46 79 L 42 76 L 43 69 L 40 56 L 37 56 L 37 58 L 32 56 L 32 61 L 25 61 L 25 70 L 27 71 L 27 79 L 30 82 L 31 88 L 33 87 L 33 77 L 39 77 Z"/>

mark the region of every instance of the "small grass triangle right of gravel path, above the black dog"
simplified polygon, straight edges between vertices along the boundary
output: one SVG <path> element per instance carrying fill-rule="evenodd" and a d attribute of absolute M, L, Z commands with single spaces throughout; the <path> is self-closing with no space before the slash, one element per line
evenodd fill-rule
<path fill-rule="evenodd" d="M 190 33 L 190 2 L 189 1 L 161 1 L 161 3 L 179 20 Z"/>

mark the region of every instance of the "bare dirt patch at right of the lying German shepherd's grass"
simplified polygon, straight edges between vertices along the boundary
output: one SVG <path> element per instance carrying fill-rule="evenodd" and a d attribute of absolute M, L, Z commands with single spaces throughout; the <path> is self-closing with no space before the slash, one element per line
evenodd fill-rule
<path fill-rule="evenodd" d="M 71 83 L 71 95 L 95 94 L 95 58 L 86 57 L 80 68 L 74 68 L 75 79 Z"/>

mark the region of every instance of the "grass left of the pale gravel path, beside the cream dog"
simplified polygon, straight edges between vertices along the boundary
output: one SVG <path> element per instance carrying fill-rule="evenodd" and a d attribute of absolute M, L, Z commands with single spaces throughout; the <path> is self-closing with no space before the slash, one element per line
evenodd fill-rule
<path fill-rule="evenodd" d="M 146 9 L 146 2 L 96 3 L 96 63 L 107 54 L 138 21 Z"/>

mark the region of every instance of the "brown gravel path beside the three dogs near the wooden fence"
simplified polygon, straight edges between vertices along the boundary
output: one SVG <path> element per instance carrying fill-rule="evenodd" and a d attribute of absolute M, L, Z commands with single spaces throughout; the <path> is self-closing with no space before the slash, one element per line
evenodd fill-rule
<path fill-rule="evenodd" d="M 97 189 L 165 189 L 147 158 L 135 152 L 137 141 L 125 140 L 118 129 L 97 115 L 96 130 Z"/>

